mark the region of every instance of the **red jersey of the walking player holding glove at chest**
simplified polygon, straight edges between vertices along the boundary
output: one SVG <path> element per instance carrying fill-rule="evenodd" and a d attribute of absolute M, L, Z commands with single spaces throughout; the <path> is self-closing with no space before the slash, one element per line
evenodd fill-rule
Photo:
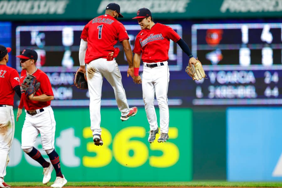
<path fill-rule="evenodd" d="M 37 82 L 40 82 L 39 90 L 35 92 L 34 96 L 39 96 L 42 94 L 45 94 L 48 96 L 54 96 L 50 80 L 48 76 L 42 70 L 37 69 L 32 75 L 36 77 Z M 25 77 L 26 77 L 26 70 L 22 70 L 21 79 L 20 79 L 21 83 L 24 82 Z M 19 108 L 23 108 L 24 106 L 26 110 L 36 110 L 36 109 L 50 106 L 51 104 L 51 101 L 41 102 L 41 101 L 29 100 L 25 96 L 24 91 L 22 90 L 21 92 L 22 92 L 22 97 L 21 97 L 20 104 L 18 105 Z"/>

